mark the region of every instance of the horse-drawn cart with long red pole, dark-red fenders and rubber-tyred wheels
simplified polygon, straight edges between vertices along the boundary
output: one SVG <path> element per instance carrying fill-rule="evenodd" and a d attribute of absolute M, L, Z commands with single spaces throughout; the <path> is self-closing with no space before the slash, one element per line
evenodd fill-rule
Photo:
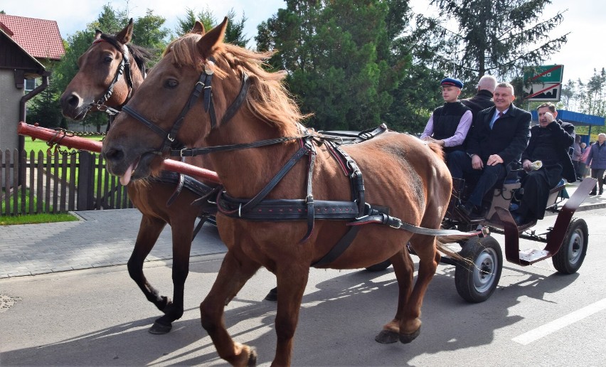
<path fill-rule="evenodd" d="M 62 130 L 46 129 L 20 122 L 18 133 L 46 140 L 50 145 L 60 144 L 68 148 L 97 153 L 101 151 L 100 142 L 75 137 Z M 368 139 L 363 135 L 361 137 L 357 132 L 322 132 L 322 134 L 338 137 L 344 144 L 352 144 L 359 139 Z M 168 171 L 220 184 L 216 173 L 208 169 L 169 159 L 164 161 L 164 167 Z M 478 234 L 457 241 L 461 247 L 457 254 L 464 260 L 452 256 L 442 256 L 442 263 L 456 267 L 454 282 L 459 295 L 468 302 L 484 302 L 489 299 L 499 284 L 504 257 L 499 241 L 491 233 L 504 234 L 505 259 L 509 262 L 527 266 L 551 257 L 553 266 L 558 272 L 563 274 L 577 272 L 583 265 L 587 252 L 588 226 L 585 220 L 573 218 L 573 214 L 591 189 L 595 187 L 595 182 L 595 179 L 585 179 L 570 198 L 568 198 L 564 184 L 553 188 L 548 199 L 547 210 L 558 213 L 558 216 L 553 227 L 548 228 L 544 233 L 537 233 L 536 230 L 533 230 L 537 220 L 519 227 L 509 210 L 506 209 L 509 208 L 512 198 L 515 198 L 516 192 L 520 188 L 519 181 L 506 181 L 501 188 L 496 188 L 491 193 L 488 214 L 482 220 L 469 220 L 461 213 L 449 208 L 443 221 L 443 228 L 472 230 Z M 453 196 L 463 196 L 462 191 L 454 192 Z M 543 250 L 520 250 L 519 240 L 521 238 L 546 243 L 546 247 Z M 414 253 L 412 249 L 409 250 Z M 386 260 L 366 269 L 381 271 L 389 266 L 390 262 Z"/>

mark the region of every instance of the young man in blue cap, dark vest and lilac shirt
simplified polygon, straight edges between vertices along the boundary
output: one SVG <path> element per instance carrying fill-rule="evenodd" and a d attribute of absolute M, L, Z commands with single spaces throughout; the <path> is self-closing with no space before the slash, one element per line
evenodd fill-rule
<path fill-rule="evenodd" d="M 446 161 L 453 151 L 464 150 L 463 142 L 472 126 L 472 110 L 459 100 L 463 83 L 454 78 L 445 78 L 442 85 L 444 105 L 432 113 L 421 139 L 439 144 L 446 154 Z"/>

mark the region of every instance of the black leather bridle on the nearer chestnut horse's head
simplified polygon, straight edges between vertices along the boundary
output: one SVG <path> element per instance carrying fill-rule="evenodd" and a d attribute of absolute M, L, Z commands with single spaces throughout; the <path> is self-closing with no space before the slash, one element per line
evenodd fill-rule
<path fill-rule="evenodd" d="M 208 63 L 213 63 L 213 60 L 209 59 Z M 184 105 L 179 116 L 176 118 L 174 124 L 171 127 L 171 131 L 169 131 L 169 132 L 166 132 L 166 130 L 162 129 L 158 125 L 149 121 L 149 119 L 147 119 L 146 117 L 144 117 L 143 115 L 141 115 L 139 112 L 135 111 L 134 109 L 132 109 L 132 107 L 129 107 L 128 105 L 125 105 L 124 107 L 122 107 L 122 111 L 127 112 L 129 115 L 131 115 L 135 119 L 139 120 L 139 122 L 141 122 L 146 127 L 151 129 L 151 131 L 155 132 L 160 137 L 163 137 L 161 147 L 159 149 L 156 149 L 155 151 L 152 151 L 153 153 L 164 154 L 165 151 L 170 150 L 171 156 L 184 157 L 184 156 L 196 155 L 196 154 L 187 154 L 187 155 L 181 154 L 181 152 L 189 151 L 191 149 L 172 149 L 172 148 L 175 148 L 174 142 L 176 139 L 176 135 L 179 132 L 179 129 L 181 129 L 181 125 L 183 124 L 186 115 L 188 114 L 191 107 L 193 107 L 193 105 L 196 104 L 196 102 L 198 101 L 198 98 L 200 96 L 202 96 L 202 98 L 203 98 L 204 112 L 208 113 L 211 117 L 211 129 L 214 129 L 217 126 L 217 117 L 216 117 L 215 107 L 213 104 L 212 80 L 213 80 L 213 70 L 207 70 L 207 68 L 204 68 L 204 70 L 200 74 L 200 77 L 198 78 L 198 81 L 196 82 L 196 85 L 193 86 L 193 90 L 191 91 L 191 94 L 189 95 L 188 101 Z M 244 99 L 248 93 L 249 86 L 250 86 L 250 81 L 248 79 L 248 75 L 246 75 L 246 73 L 243 73 L 242 79 L 241 79 L 240 92 L 238 93 L 238 96 L 235 97 L 235 100 L 228 107 L 228 109 L 225 110 L 225 115 L 223 115 L 223 118 L 221 118 L 221 124 L 228 122 L 235 115 L 235 112 L 238 112 L 238 109 L 244 102 Z M 179 148 L 182 148 L 182 144 L 179 145 Z"/>

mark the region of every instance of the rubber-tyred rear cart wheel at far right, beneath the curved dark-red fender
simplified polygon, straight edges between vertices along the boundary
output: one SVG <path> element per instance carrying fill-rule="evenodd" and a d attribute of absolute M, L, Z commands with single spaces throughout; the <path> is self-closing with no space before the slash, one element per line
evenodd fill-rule
<path fill-rule="evenodd" d="M 563 274 L 573 274 L 583 265 L 587 254 L 588 230 L 583 219 L 574 218 L 558 252 L 551 258 L 553 267 Z"/>

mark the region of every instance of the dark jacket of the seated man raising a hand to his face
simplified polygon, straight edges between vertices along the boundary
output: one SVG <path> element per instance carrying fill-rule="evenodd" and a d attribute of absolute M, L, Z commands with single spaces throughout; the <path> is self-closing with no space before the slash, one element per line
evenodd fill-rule
<path fill-rule="evenodd" d="M 522 161 L 524 159 L 528 159 L 530 161 L 535 160 L 533 159 L 533 151 L 535 151 L 537 142 L 539 141 L 538 137 L 540 135 L 540 129 L 540 125 L 534 125 L 531 127 L 530 142 L 528 142 L 528 147 L 526 147 L 522 153 Z M 577 177 L 575 174 L 575 168 L 573 166 L 572 159 L 570 159 L 570 154 L 568 154 L 570 146 L 572 146 L 575 142 L 575 125 L 558 119 L 555 120 L 555 122 L 548 124 L 547 129 L 551 133 L 550 137 L 553 139 L 553 147 L 558 154 L 557 161 L 562 165 L 562 176 L 568 182 L 576 182 Z"/>

